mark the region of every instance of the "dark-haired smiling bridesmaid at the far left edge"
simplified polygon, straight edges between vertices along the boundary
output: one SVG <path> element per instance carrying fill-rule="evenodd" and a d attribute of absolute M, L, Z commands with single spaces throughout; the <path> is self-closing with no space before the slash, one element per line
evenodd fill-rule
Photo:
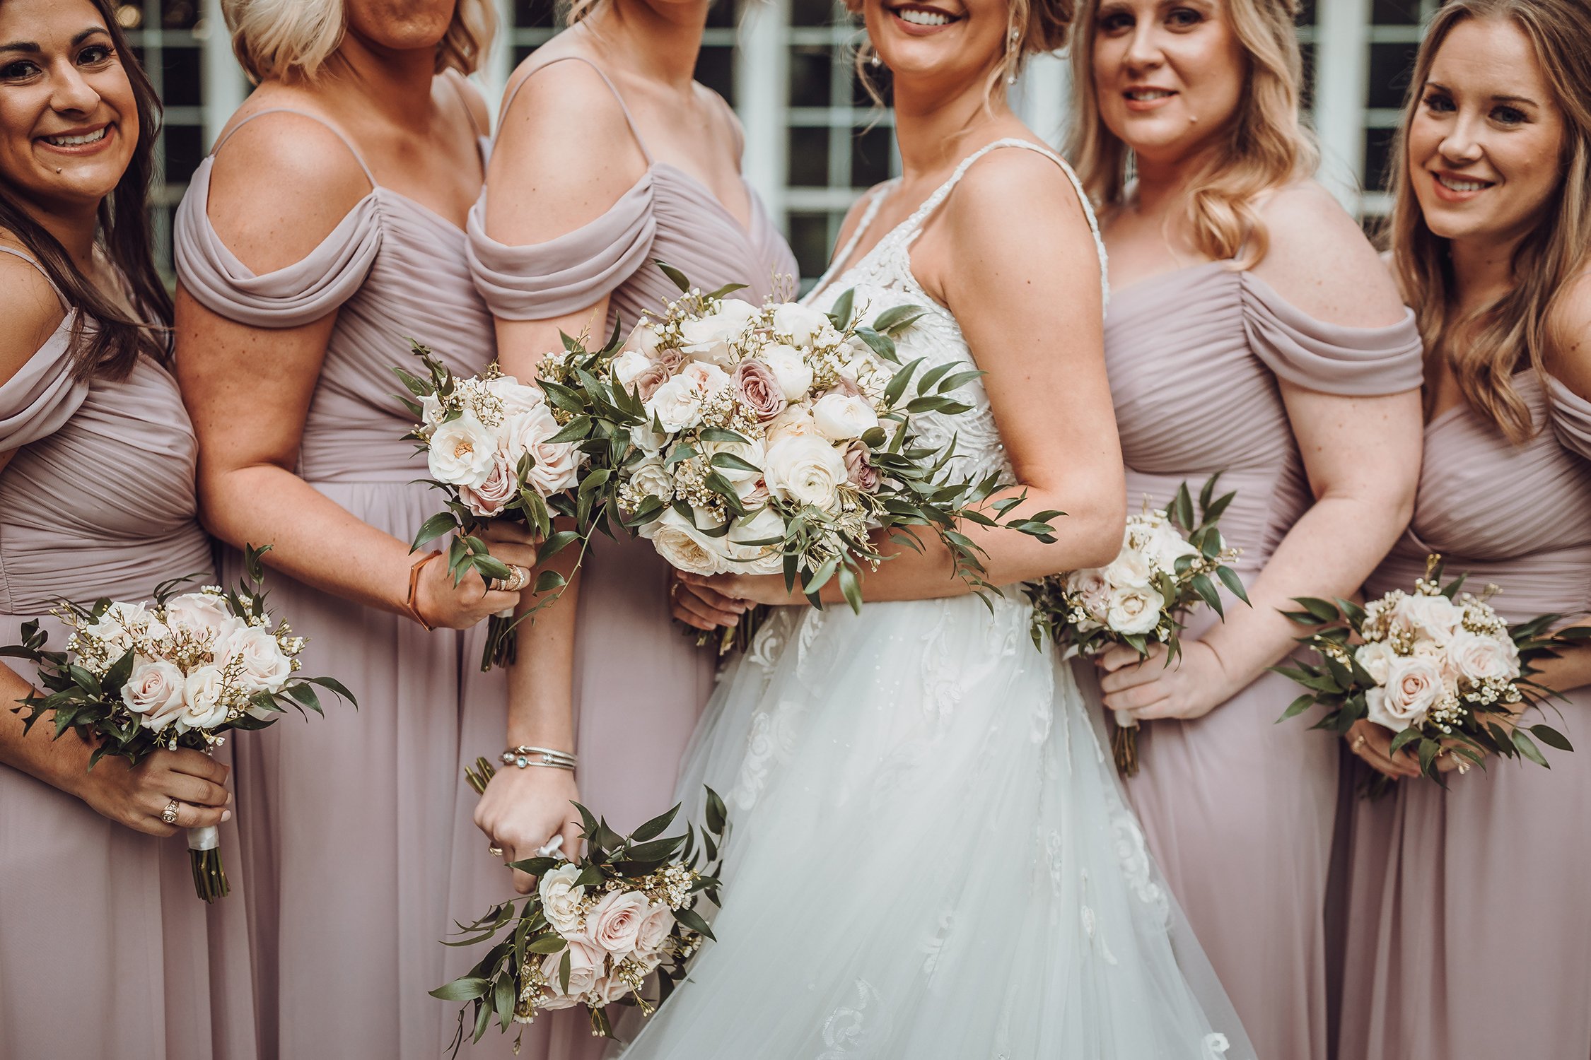
<path fill-rule="evenodd" d="M 148 599 L 210 544 L 150 254 L 154 89 L 103 0 L 5 0 L 0 41 L 0 644 L 43 617 L 59 650 L 60 598 Z M 226 764 L 89 772 L 48 718 L 22 733 L 32 679 L 0 666 L 0 1057 L 253 1057 L 243 898 L 207 941 L 173 838 L 231 818 Z"/>

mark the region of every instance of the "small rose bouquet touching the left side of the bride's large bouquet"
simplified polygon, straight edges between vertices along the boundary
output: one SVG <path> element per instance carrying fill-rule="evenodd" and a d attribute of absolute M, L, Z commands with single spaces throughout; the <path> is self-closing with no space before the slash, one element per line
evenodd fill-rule
<path fill-rule="evenodd" d="M 503 375 L 496 364 L 480 375 L 458 378 L 431 350 L 410 340 L 425 366 L 425 378 L 393 369 L 409 389 L 399 397 L 418 420 L 406 439 L 425 455 L 431 485 L 447 494 L 447 510 L 428 518 L 412 548 L 453 534 L 447 567 L 453 578 L 474 569 L 487 583 L 514 585 L 509 567 L 493 559 L 476 537 L 485 520 L 517 520 L 541 534 L 538 559 L 546 559 L 574 540 L 552 532 L 552 515 L 573 512 L 566 494 L 579 482 L 584 455 L 568 440 L 547 396 Z M 543 572 L 538 593 L 562 585 L 557 572 Z M 550 601 L 549 601 L 550 602 Z M 541 604 L 546 605 L 546 604 Z M 487 644 L 480 669 L 506 663 L 514 653 L 514 629 L 527 615 L 512 612 L 487 620 Z"/>

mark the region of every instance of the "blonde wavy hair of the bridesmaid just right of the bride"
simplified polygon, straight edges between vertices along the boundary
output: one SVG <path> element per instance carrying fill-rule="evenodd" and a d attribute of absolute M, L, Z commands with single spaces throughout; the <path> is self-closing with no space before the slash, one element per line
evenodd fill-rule
<path fill-rule="evenodd" d="M 1298 121 L 1303 57 L 1298 52 L 1297 0 L 1222 0 L 1247 62 L 1238 113 L 1225 143 L 1193 175 L 1188 221 L 1193 245 L 1233 269 L 1252 269 L 1270 250 L 1260 197 L 1314 173 L 1321 156 L 1314 137 Z M 1083 188 L 1101 207 L 1120 207 L 1126 195 L 1131 151 L 1099 116 L 1093 81 L 1093 40 L 1099 0 L 1088 0 L 1072 48 L 1072 119 L 1066 156 Z"/>

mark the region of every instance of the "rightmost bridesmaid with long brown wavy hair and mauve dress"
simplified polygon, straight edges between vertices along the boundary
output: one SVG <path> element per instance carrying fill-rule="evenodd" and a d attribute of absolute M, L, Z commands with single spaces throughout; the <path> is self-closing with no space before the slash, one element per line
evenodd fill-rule
<path fill-rule="evenodd" d="M 1392 270 L 1419 316 L 1426 467 L 1414 523 L 1365 593 L 1426 555 L 1496 583 L 1508 621 L 1591 612 L 1591 13 L 1449 0 L 1394 157 Z M 1343 1060 L 1591 1055 L 1591 645 L 1538 677 L 1573 753 L 1357 803 Z M 1561 718 L 1558 712 L 1561 710 Z M 1413 777 L 1386 729 L 1349 747 Z"/>

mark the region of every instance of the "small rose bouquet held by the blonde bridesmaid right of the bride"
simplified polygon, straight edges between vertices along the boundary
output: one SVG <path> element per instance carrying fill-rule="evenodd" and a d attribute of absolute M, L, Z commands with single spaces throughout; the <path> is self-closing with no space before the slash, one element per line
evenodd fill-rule
<path fill-rule="evenodd" d="M 1166 664 L 1182 645 L 1184 615 L 1200 602 L 1225 617 L 1214 578 L 1249 602 L 1243 582 L 1231 569 L 1238 550 L 1228 548 L 1216 523 L 1235 493 L 1214 497 L 1219 474 L 1198 494 L 1198 518 L 1187 483 L 1171 504 L 1126 520 L 1122 551 L 1106 567 L 1071 571 L 1025 586 L 1033 601 L 1033 642 L 1044 637 L 1066 645 L 1066 656 L 1099 655 L 1117 644 L 1149 656 L 1152 644 L 1168 647 Z M 1111 750 L 1122 776 L 1138 774 L 1138 720 L 1117 710 Z"/>

